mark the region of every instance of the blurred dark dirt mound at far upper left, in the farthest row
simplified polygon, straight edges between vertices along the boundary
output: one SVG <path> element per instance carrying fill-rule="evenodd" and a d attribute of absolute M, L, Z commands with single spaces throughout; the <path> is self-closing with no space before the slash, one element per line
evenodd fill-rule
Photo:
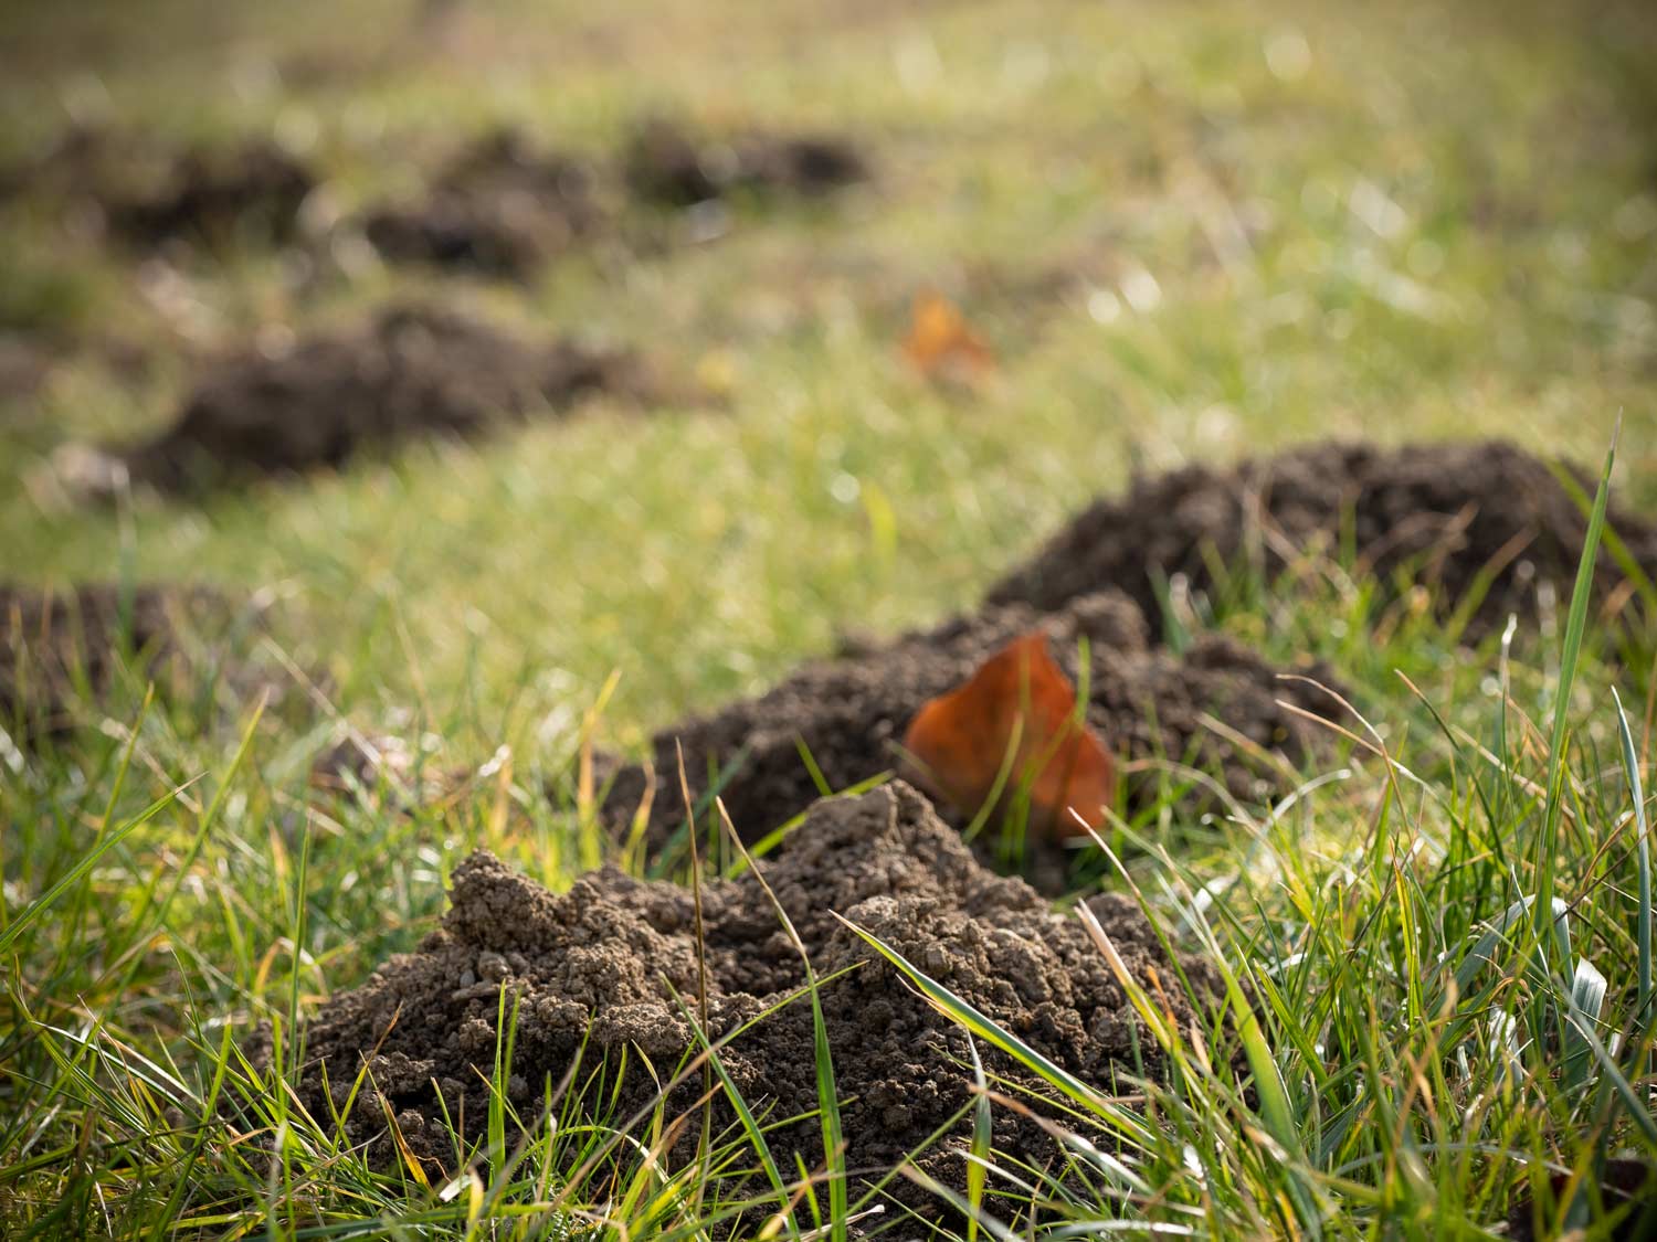
<path fill-rule="evenodd" d="M 315 187 L 308 167 L 275 142 L 254 139 L 225 151 L 189 151 L 144 190 L 104 197 L 103 210 L 111 232 L 136 245 L 283 242 L 297 232 L 300 207 Z"/>

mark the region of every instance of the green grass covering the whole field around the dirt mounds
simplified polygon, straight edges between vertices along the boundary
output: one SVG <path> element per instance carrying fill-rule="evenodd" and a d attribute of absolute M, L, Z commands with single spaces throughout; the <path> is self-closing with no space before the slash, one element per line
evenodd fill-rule
<path fill-rule="evenodd" d="M 661 106 L 843 128 L 880 181 L 527 288 L 184 258 L 189 313 L 28 195 L 0 204 L 0 326 L 66 354 L 36 401 L 0 406 L 7 573 L 268 590 L 265 659 L 326 672 L 335 710 L 419 763 L 481 773 L 409 811 L 386 788 L 318 798 L 328 720 L 227 719 L 136 679 L 61 744 L 0 749 L 0 1232 L 835 1237 L 893 1219 L 862 1216 L 880 1199 L 833 1158 L 772 1149 L 761 1101 L 731 1131 L 664 1108 L 625 1126 L 616 1065 L 572 1066 L 539 1116 L 497 1090 L 492 1159 L 449 1184 L 371 1167 L 282 1081 L 305 1015 L 418 942 L 469 848 L 560 888 L 597 859 L 570 780 L 595 704 L 605 744 L 636 744 L 838 629 L 968 604 L 1135 467 L 1312 434 L 1488 432 L 1597 460 L 1621 417 L 1619 498 L 1657 500 L 1650 20 L 1372 8 L 510 0 L 459 10 L 442 41 L 391 0 L 8 13 L 5 151 L 99 109 L 171 139 L 275 128 L 350 205 L 446 136 L 515 121 L 601 154 Z M 983 391 L 905 371 L 930 285 L 996 346 Z M 731 407 L 595 412 L 199 508 L 65 512 L 30 485 L 63 439 L 164 419 L 184 351 L 409 288 L 653 343 L 732 376 Z M 111 336 L 152 371 L 81 348 Z M 1278 806 L 1198 821 L 1170 772 L 1112 826 L 1123 864 L 1102 883 L 1226 964 L 1229 1013 L 1171 1028 L 1125 980 L 1170 1075 L 1133 1108 L 1054 1083 L 1065 1158 L 1047 1167 L 988 1149 L 986 1106 L 1029 1101 L 986 1078 L 963 1101 L 961 1235 L 1024 1237 L 1041 1201 L 1128 1235 L 1486 1237 L 1529 1194 L 1606 1237 L 1601 1166 L 1657 1154 L 1650 651 L 1561 601 L 1468 656 L 1337 576 L 1239 576 L 1203 623 L 1329 659 L 1372 732 Z M 255 1070 L 262 1025 L 280 1052 Z M 717 1042 L 656 1070 L 734 1095 Z M 701 1154 L 668 1169 L 679 1124 Z"/>

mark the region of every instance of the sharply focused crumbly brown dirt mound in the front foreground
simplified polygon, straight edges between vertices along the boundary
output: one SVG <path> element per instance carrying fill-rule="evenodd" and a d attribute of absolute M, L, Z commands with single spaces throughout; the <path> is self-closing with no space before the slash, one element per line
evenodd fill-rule
<path fill-rule="evenodd" d="M 1054 914 L 1022 881 L 981 868 L 906 785 L 817 803 L 795 848 L 759 866 L 817 974 L 857 967 L 824 987 L 822 1005 L 843 1100 L 847 1167 L 858 1181 L 885 1172 L 948 1123 L 969 1100 L 971 1061 L 963 1032 L 835 912 L 1085 1081 L 1115 1090 L 1118 1078 L 1137 1073 L 1135 1055 L 1147 1073 L 1158 1073 L 1153 1042 L 1079 922 Z M 1200 1020 L 1138 909 L 1109 896 L 1095 898 L 1092 909 L 1133 977 L 1163 980 L 1181 1028 Z M 706 884 L 703 922 L 714 1038 L 804 985 L 800 959 L 752 874 Z M 1200 994 L 1215 989 L 1205 962 L 1183 957 L 1178 969 Z M 524 1118 L 539 1113 L 548 1086 L 578 1057 L 575 1081 L 600 1061 L 620 1073 L 630 1048 L 666 1080 L 699 1047 L 681 1009 L 694 1012 L 698 995 L 691 893 L 606 868 L 553 896 L 490 854 L 474 854 L 454 873 L 442 929 L 419 952 L 391 959 L 368 984 L 330 1000 L 310 1023 L 300 1098 L 313 1116 L 330 1116 L 366 1061 L 370 1080 L 345 1123 L 351 1141 L 370 1143 L 371 1156 L 391 1164 L 389 1114 L 416 1156 L 452 1167 L 442 1110 L 467 1144 L 484 1139 L 502 990 L 519 1013 L 509 1095 Z M 1037 1086 L 1009 1058 L 979 1050 L 991 1075 Z M 658 1093 L 636 1053 L 618 1086 L 616 1124 Z M 807 1002 L 762 1018 L 721 1057 L 756 1113 L 780 1121 L 817 1108 Z M 669 1095 L 669 1116 L 691 1108 L 699 1091 L 693 1073 Z M 595 1101 L 588 1095 L 583 1103 Z M 726 1098 L 716 1100 L 716 1126 L 734 1121 Z M 696 1131 L 686 1128 L 669 1159 L 694 1149 Z M 509 1146 L 514 1141 L 509 1134 Z M 961 1134 L 949 1134 L 923 1166 L 959 1186 L 959 1144 Z M 779 1128 L 772 1146 L 784 1169 L 795 1167 L 792 1151 L 810 1167 L 822 1163 L 815 1119 Z M 996 1146 L 1026 1159 L 1052 1151 L 1041 1129 L 1011 1110 L 998 1110 Z M 923 1202 L 901 1179 L 896 1194 Z"/>

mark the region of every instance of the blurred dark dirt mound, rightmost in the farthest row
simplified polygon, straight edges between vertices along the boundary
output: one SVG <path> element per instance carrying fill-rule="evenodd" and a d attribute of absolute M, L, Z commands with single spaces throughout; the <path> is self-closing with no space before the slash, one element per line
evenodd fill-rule
<path fill-rule="evenodd" d="M 817 197 L 868 179 L 868 162 L 843 137 L 751 132 L 704 139 L 661 118 L 640 126 L 623 164 L 633 192 L 666 207 L 729 194 Z"/>

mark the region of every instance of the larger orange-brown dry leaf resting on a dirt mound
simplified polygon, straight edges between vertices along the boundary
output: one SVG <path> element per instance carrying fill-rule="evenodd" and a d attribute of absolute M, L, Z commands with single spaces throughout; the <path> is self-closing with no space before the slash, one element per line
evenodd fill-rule
<path fill-rule="evenodd" d="M 976 815 L 994 790 L 1014 734 L 1017 752 L 1004 792 L 1031 785 L 1031 831 L 1051 841 L 1070 836 L 1075 821 L 1067 808 L 1092 828 L 1102 826 L 1102 808 L 1115 793 L 1115 763 L 1079 719 L 1075 687 L 1042 633 L 1014 639 L 964 686 L 926 702 L 910 722 L 903 749 L 951 806 Z"/>

